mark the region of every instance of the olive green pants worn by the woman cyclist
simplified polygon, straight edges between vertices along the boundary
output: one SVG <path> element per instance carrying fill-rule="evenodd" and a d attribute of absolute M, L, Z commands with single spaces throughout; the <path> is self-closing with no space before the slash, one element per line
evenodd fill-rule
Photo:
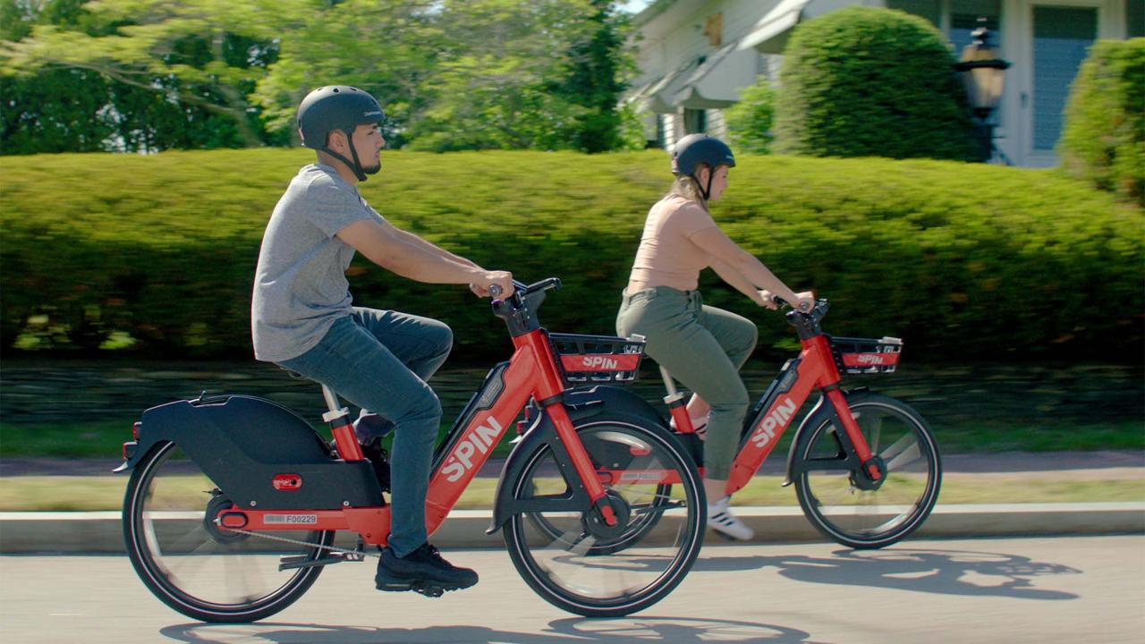
<path fill-rule="evenodd" d="M 656 286 L 625 290 L 622 296 L 616 332 L 643 336 L 645 353 L 711 405 L 704 473 L 709 479 L 727 479 L 748 413 L 740 367 L 756 348 L 755 323 L 704 306 L 700 291 Z"/>

